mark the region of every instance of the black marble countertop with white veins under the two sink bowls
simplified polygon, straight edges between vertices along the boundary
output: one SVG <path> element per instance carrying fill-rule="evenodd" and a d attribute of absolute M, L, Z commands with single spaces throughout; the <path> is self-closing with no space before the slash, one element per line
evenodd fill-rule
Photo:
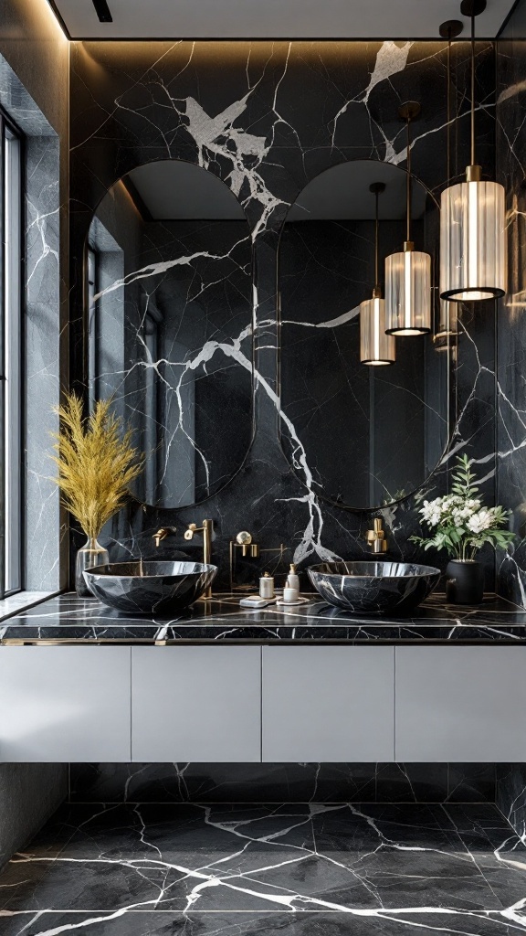
<path fill-rule="evenodd" d="M 526 610 L 496 595 L 478 607 L 446 605 L 433 594 L 411 617 L 353 618 L 314 597 L 307 605 L 242 608 L 240 595 L 197 602 L 179 618 L 119 614 L 95 598 L 67 592 L 0 622 L 0 645 L 158 644 L 517 644 L 526 642 Z"/>

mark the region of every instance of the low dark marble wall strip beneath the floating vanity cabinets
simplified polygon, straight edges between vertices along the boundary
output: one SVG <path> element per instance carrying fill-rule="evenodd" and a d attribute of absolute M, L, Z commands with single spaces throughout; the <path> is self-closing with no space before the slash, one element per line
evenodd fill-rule
<path fill-rule="evenodd" d="M 86 803 L 494 802 L 495 773 L 495 764 L 71 764 L 69 798 Z"/>

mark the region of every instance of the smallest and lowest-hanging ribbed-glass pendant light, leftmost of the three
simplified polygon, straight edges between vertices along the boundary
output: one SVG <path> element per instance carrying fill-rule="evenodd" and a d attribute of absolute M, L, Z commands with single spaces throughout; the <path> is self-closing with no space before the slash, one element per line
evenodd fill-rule
<path fill-rule="evenodd" d="M 385 192 L 383 182 L 375 182 L 369 191 L 375 197 L 374 214 L 374 288 L 372 299 L 361 302 L 359 307 L 359 359 L 372 367 L 394 364 L 396 358 L 395 339 L 386 334 L 386 300 L 378 277 L 378 198 Z"/>

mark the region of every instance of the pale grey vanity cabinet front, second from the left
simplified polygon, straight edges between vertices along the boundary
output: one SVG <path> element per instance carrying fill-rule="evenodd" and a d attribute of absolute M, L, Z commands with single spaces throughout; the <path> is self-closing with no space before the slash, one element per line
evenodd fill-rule
<path fill-rule="evenodd" d="M 133 647 L 132 686 L 133 761 L 260 761 L 260 647 Z"/>

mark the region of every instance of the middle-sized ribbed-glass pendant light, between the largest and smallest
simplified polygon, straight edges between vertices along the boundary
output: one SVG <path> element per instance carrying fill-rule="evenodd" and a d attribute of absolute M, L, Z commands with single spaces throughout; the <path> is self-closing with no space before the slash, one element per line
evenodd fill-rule
<path fill-rule="evenodd" d="M 416 101 L 399 110 L 407 124 L 407 236 L 403 253 L 386 259 L 386 322 L 389 335 L 421 335 L 431 331 L 431 256 L 415 250 L 411 240 L 411 122 L 420 113 Z"/>

